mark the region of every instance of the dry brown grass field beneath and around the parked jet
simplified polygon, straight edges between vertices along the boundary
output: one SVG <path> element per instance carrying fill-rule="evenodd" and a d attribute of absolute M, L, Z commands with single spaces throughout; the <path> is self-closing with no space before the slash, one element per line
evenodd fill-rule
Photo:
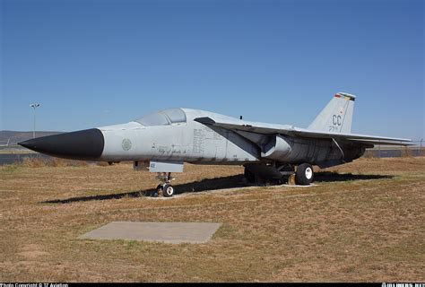
<path fill-rule="evenodd" d="M 129 164 L 0 167 L 0 282 L 425 281 L 425 158 L 360 159 L 312 187 L 242 172 L 186 165 L 164 199 Z M 206 244 L 77 239 L 113 221 L 222 226 Z"/>

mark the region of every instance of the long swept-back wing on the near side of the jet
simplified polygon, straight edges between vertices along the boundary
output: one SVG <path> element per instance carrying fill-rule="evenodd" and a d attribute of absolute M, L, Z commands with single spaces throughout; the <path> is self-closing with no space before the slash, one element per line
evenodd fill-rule
<path fill-rule="evenodd" d="M 213 119 L 211 117 L 196 117 L 195 121 L 206 126 L 219 126 L 232 131 L 244 131 L 261 135 L 292 135 L 310 138 L 334 138 L 352 143 L 383 144 L 383 145 L 411 145 L 412 140 L 405 138 L 383 137 L 374 135 L 355 135 L 340 133 L 325 133 L 312 131 L 305 128 L 287 125 L 274 125 L 257 122 L 247 122 L 243 120 Z"/>

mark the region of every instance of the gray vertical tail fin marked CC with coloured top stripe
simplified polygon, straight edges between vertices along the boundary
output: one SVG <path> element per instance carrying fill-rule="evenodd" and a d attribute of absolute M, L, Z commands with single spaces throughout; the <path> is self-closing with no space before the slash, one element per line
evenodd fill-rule
<path fill-rule="evenodd" d="M 329 133 L 350 134 L 355 99 L 356 96 L 354 95 L 338 92 L 329 101 L 325 109 L 308 126 L 308 129 Z"/>

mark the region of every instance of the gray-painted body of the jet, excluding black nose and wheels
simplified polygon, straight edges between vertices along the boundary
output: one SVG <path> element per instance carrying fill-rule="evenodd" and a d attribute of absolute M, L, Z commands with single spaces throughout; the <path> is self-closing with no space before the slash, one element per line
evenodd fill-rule
<path fill-rule="evenodd" d="M 353 95 L 337 93 L 308 129 L 249 122 L 199 109 L 165 109 L 158 116 L 143 117 L 144 120 L 100 127 L 105 138 L 100 160 L 161 162 L 154 169 L 151 167 L 155 172 L 180 170 L 172 162 L 227 165 L 308 162 L 329 167 L 359 158 L 375 143 L 409 141 L 350 134 L 354 99 Z"/>

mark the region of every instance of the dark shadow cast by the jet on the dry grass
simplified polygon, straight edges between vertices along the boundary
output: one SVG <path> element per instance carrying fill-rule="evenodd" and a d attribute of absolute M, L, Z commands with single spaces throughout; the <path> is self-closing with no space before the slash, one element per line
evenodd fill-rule
<path fill-rule="evenodd" d="M 370 179 L 383 179 L 393 178 L 388 175 L 360 175 L 351 173 L 337 173 L 330 171 L 317 172 L 315 179 L 317 182 L 335 182 L 335 181 L 348 181 L 348 180 L 370 180 Z M 220 190 L 225 188 L 234 187 L 247 187 L 243 175 L 229 176 L 223 178 L 206 178 L 201 181 L 194 181 L 185 184 L 180 184 L 178 187 L 179 194 L 188 192 L 202 192 Z M 92 200 L 109 200 L 120 199 L 123 197 L 144 197 L 152 196 L 153 189 L 144 189 L 132 192 L 125 192 L 121 194 L 99 195 L 99 196 L 79 196 L 66 199 L 53 199 L 41 202 L 40 204 L 71 204 L 74 202 L 86 202 Z"/>

